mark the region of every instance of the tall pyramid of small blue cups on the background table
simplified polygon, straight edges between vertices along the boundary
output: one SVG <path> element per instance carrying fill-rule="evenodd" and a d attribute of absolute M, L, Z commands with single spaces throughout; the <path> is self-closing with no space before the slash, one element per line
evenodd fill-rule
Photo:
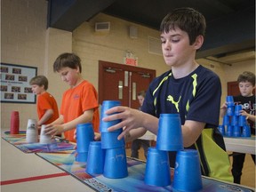
<path fill-rule="evenodd" d="M 246 116 L 240 115 L 242 105 L 236 105 L 233 96 L 227 96 L 227 111 L 223 116 L 219 131 L 226 137 L 251 137 L 250 125 L 246 121 Z"/>

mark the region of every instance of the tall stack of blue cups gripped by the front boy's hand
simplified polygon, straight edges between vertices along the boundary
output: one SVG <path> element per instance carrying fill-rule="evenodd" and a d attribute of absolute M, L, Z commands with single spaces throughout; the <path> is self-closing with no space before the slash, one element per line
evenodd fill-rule
<path fill-rule="evenodd" d="M 121 102 L 118 100 L 104 100 L 101 107 L 101 119 L 108 116 L 105 114 L 106 110 L 120 105 Z M 108 132 L 108 127 L 120 122 L 121 120 L 100 121 L 101 148 L 105 150 L 103 176 L 107 178 L 117 179 L 128 176 L 125 141 L 124 138 L 117 140 L 118 135 L 123 132 L 123 127 L 114 132 Z"/>

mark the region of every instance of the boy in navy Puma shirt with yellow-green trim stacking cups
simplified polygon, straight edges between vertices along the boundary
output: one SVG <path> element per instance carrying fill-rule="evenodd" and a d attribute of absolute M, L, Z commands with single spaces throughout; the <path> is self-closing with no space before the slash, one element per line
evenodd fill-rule
<path fill-rule="evenodd" d="M 218 130 L 220 78 L 196 63 L 196 51 L 204 43 L 204 16 L 192 8 L 179 8 L 164 17 L 160 26 L 164 60 L 170 70 L 149 85 L 142 113 L 127 107 L 110 108 L 104 121 L 122 119 L 108 131 L 124 127 L 118 139 L 138 138 L 147 130 L 157 135 L 158 118 L 178 113 L 184 148 L 198 151 L 201 172 L 219 180 L 232 181 L 225 143 Z M 172 142 L 172 140 L 170 140 Z M 174 167 L 176 153 L 169 154 Z"/>

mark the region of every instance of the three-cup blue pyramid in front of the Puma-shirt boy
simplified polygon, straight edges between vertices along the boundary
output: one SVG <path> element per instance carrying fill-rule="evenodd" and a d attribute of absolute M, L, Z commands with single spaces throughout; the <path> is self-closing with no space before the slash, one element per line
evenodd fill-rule
<path fill-rule="evenodd" d="M 168 152 L 175 151 L 176 163 L 171 181 Z M 193 180 L 191 180 L 193 178 Z M 156 148 L 148 148 L 144 181 L 152 186 L 169 186 L 180 191 L 203 188 L 196 149 L 184 149 L 179 114 L 160 114 Z"/>

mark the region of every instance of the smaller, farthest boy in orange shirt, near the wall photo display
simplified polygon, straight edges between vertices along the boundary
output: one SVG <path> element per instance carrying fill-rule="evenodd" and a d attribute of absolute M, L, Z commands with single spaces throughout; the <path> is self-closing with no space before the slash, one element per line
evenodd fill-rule
<path fill-rule="evenodd" d="M 58 105 L 54 97 L 46 92 L 48 89 L 48 79 L 45 76 L 35 76 L 29 84 L 32 87 L 32 91 L 37 95 L 37 125 L 51 124 L 59 117 Z"/>

